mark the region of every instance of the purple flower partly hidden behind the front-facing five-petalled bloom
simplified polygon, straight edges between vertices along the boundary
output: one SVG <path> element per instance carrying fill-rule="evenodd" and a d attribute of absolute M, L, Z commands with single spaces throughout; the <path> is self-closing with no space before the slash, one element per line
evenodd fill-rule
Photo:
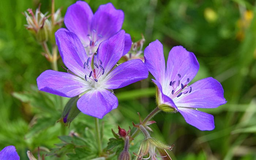
<path fill-rule="evenodd" d="M 111 3 L 100 5 L 93 14 L 86 2 L 77 1 L 68 7 L 64 17 L 65 26 L 79 37 L 87 55 L 92 55 L 102 41 L 120 31 L 123 22 L 124 12 L 114 8 Z M 124 54 L 131 45 L 131 36 L 125 34 Z"/>

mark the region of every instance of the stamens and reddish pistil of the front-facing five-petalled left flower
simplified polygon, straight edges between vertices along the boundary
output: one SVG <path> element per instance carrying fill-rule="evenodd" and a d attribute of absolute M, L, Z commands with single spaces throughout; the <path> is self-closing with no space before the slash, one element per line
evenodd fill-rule
<path fill-rule="evenodd" d="M 86 81 L 90 80 L 90 81 L 98 82 L 99 77 L 105 73 L 105 69 L 102 66 L 102 61 L 98 59 L 96 55 L 97 53 L 94 53 L 94 55 L 92 56 L 93 57 L 92 60 L 91 60 L 91 57 L 89 57 L 87 61 L 84 62 L 83 68 L 89 70 L 89 74 L 88 75 L 85 74 L 84 76 L 84 79 Z M 91 60 L 91 65 L 89 65 L 90 60 Z"/>

